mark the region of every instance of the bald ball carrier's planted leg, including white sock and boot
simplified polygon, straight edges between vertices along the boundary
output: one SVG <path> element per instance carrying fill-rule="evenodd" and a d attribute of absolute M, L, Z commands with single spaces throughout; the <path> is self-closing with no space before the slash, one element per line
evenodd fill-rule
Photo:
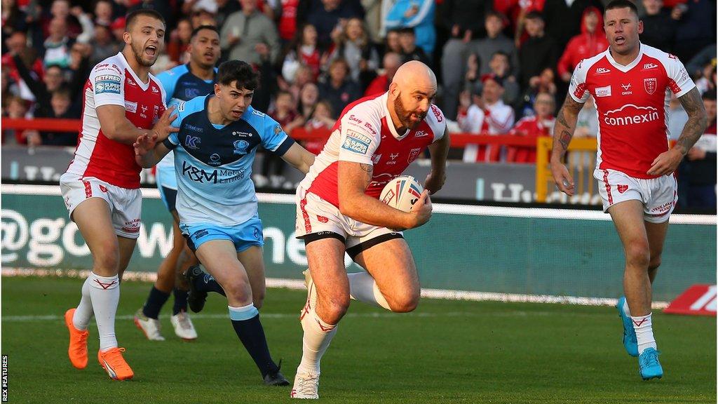
<path fill-rule="evenodd" d="M 292 398 L 319 398 L 320 362 L 337 323 L 349 308 L 349 280 L 344 268 L 345 245 L 338 239 L 307 244 L 309 274 L 307 303 L 300 312 L 302 361 L 292 386 Z"/>

